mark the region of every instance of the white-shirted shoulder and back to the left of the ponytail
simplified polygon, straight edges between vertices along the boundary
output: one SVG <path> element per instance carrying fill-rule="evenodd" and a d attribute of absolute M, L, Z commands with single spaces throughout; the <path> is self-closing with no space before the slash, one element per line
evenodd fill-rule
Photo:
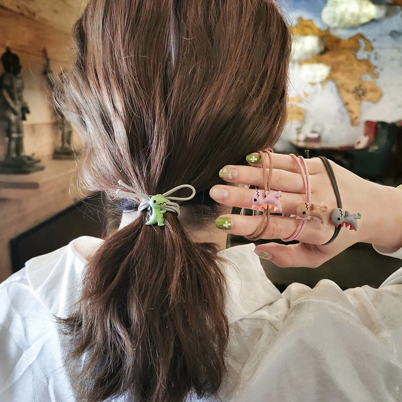
<path fill-rule="evenodd" d="M 0 285 L 0 400 L 76 400 L 55 316 L 74 303 L 85 260 L 100 242 L 75 239 Z"/>

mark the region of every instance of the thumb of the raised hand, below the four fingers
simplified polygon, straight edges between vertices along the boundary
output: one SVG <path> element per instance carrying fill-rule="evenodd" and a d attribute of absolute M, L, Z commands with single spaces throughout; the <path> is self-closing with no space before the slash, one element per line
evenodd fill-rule
<path fill-rule="evenodd" d="M 317 268 L 331 258 L 314 244 L 261 244 L 254 249 L 261 258 L 271 260 L 278 267 Z"/>

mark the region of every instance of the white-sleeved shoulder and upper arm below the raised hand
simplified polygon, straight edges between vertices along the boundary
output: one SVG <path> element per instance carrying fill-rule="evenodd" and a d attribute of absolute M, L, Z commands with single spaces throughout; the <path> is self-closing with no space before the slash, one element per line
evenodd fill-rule
<path fill-rule="evenodd" d="M 261 351 L 253 400 L 397 400 L 402 385 L 402 304 L 369 286 L 342 291 L 328 279 L 282 293 L 286 319 Z M 287 305 L 287 306 L 286 306 Z M 308 387 L 303 384 L 309 384 Z"/>

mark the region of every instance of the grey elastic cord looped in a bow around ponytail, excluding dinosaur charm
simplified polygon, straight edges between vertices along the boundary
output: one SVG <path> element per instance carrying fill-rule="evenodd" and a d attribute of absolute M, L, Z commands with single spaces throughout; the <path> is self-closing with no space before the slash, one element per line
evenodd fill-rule
<path fill-rule="evenodd" d="M 126 189 L 130 190 L 130 192 L 122 191 L 122 190 L 118 189 L 118 190 L 116 190 L 117 195 L 124 195 L 126 198 L 132 199 L 132 200 L 137 200 L 137 198 L 146 199 L 146 201 L 143 201 L 142 203 L 140 203 L 140 205 L 138 207 L 139 212 L 144 211 L 147 208 L 150 208 L 149 200 L 153 197 L 152 195 L 144 194 L 143 192 L 138 191 L 133 187 L 130 187 L 128 184 L 124 183 L 122 180 L 119 180 L 119 184 L 122 187 L 125 187 Z M 171 194 L 177 190 L 180 190 L 181 188 L 190 188 L 192 190 L 192 194 L 189 195 L 188 197 L 169 197 L 168 196 L 169 194 Z M 167 200 L 167 202 L 164 203 L 164 205 L 163 205 L 164 210 L 169 211 L 169 212 L 174 212 L 175 214 L 177 214 L 177 216 L 179 216 L 180 215 L 180 207 L 178 204 L 172 203 L 171 199 L 175 199 L 178 201 L 188 201 L 189 199 L 194 197 L 195 193 L 196 193 L 195 188 L 192 185 L 181 184 L 181 185 L 178 185 L 177 187 L 172 188 L 169 191 L 166 191 L 163 194 L 157 194 L 157 195 L 162 196 L 162 197 L 166 198 L 166 200 Z"/>

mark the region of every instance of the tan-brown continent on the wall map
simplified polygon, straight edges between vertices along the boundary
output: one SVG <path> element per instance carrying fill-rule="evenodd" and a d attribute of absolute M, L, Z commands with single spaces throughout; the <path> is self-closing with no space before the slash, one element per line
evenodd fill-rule
<path fill-rule="evenodd" d="M 402 1 L 402 0 L 401 0 Z M 294 35 L 315 35 L 324 43 L 324 50 L 308 60 L 299 62 L 304 64 L 323 63 L 330 67 L 328 80 L 332 80 L 338 88 L 339 95 L 350 116 L 352 126 L 358 126 L 360 120 L 360 106 L 363 101 L 377 103 L 382 96 L 380 88 L 375 81 L 363 80 L 362 76 L 368 74 L 377 78 L 375 66 L 368 59 L 359 60 L 356 53 L 360 49 L 360 42 L 364 44 L 365 51 L 372 52 L 370 41 L 361 34 L 350 39 L 341 39 L 333 36 L 329 30 L 322 31 L 311 20 L 298 19 L 293 27 Z M 289 120 L 300 121 L 300 111 L 295 102 L 290 102 Z M 298 113 L 297 113 L 298 112 Z M 294 117 L 293 117 L 294 116 Z"/>

